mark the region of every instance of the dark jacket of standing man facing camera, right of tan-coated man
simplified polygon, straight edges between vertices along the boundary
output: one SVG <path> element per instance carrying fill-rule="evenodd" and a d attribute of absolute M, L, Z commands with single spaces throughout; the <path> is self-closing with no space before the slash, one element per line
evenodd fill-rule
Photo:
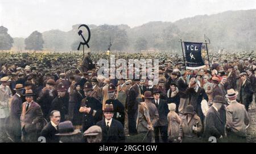
<path fill-rule="evenodd" d="M 155 126 L 166 126 L 167 125 L 167 115 L 169 113 L 167 102 L 164 99 L 159 99 L 159 105 L 156 105 L 155 99 L 151 102 L 154 103 L 159 113 L 159 120 Z"/>

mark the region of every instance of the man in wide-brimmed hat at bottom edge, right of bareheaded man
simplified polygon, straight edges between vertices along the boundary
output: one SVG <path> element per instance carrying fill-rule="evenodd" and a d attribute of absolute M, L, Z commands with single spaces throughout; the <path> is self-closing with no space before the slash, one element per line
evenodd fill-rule
<path fill-rule="evenodd" d="M 82 134 L 79 129 L 74 128 L 71 121 L 59 123 L 59 133 L 55 134 L 60 137 L 60 143 L 81 143 Z"/>

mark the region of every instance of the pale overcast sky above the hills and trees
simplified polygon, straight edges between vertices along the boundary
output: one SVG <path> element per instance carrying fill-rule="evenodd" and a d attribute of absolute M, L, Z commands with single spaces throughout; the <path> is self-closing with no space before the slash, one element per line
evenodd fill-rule
<path fill-rule="evenodd" d="M 0 0 L 0 26 L 12 37 L 69 31 L 74 24 L 175 22 L 195 15 L 256 9 L 255 0 Z"/>

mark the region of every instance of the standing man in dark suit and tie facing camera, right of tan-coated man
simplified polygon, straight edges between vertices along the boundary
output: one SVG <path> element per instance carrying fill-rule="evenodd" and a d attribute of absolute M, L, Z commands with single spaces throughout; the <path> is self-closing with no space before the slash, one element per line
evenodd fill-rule
<path fill-rule="evenodd" d="M 159 143 L 159 132 L 164 143 L 167 142 L 167 115 L 169 113 L 167 102 L 164 99 L 160 99 L 160 91 L 158 89 L 153 90 L 154 99 L 152 103 L 155 104 L 159 113 L 159 120 L 155 124 L 155 142 Z"/>

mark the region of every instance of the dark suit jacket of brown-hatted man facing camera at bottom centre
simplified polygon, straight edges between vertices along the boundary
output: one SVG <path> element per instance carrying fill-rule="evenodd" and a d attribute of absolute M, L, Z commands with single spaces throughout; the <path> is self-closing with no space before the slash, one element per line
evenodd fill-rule
<path fill-rule="evenodd" d="M 97 122 L 97 125 L 101 127 L 103 143 L 125 142 L 123 126 L 118 120 L 112 119 L 109 131 L 106 128 L 105 118 Z"/>

